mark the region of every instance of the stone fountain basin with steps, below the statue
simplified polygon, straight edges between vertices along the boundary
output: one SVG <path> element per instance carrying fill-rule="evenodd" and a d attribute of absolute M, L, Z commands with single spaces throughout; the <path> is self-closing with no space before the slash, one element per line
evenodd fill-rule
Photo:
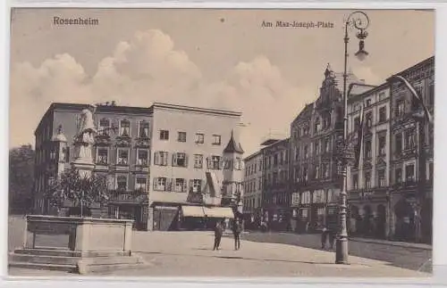
<path fill-rule="evenodd" d="M 132 220 L 29 215 L 11 267 L 80 274 L 144 264 L 131 253 Z"/>

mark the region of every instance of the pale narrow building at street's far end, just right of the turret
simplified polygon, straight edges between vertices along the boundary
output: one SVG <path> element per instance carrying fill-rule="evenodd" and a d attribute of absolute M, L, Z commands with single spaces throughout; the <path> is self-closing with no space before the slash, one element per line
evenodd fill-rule
<path fill-rule="evenodd" d="M 255 152 L 244 159 L 244 214 L 246 227 L 257 227 L 261 220 L 262 189 L 264 185 L 264 155 Z M 249 220 L 249 221 L 248 221 Z"/>

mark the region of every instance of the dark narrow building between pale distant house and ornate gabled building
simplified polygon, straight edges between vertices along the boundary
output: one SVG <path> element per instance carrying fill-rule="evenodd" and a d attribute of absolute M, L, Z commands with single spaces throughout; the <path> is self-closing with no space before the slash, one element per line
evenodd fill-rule
<path fill-rule="evenodd" d="M 289 230 L 291 224 L 291 193 L 289 193 L 289 142 L 266 141 L 261 149 L 264 157 L 263 216 L 270 229 Z"/>

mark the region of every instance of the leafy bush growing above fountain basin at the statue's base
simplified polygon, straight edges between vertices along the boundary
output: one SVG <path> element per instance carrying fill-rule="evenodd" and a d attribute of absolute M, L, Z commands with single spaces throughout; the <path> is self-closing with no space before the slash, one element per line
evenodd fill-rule
<path fill-rule="evenodd" d="M 93 203 L 105 203 L 109 199 L 106 177 L 92 174 L 81 176 L 78 169 L 69 169 L 50 183 L 46 189 L 46 199 L 57 210 L 63 208 L 65 202 L 71 202 L 76 208 L 80 208 L 80 216 L 83 210 L 89 209 Z"/>

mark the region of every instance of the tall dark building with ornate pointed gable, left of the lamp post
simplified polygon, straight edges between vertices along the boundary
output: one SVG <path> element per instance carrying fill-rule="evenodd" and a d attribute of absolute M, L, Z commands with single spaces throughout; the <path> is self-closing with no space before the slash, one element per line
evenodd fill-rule
<path fill-rule="evenodd" d="M 372 87 L 350 73 L 347 85 L 351 83 L 358 83 L 351 95 Z M 298 231 L 336 222 L 342 178 L 335 155 L 343 133 L 342 105 L 342 75 L 328 65 L 320 95 L 291 123 L 292 223 Z"/>

